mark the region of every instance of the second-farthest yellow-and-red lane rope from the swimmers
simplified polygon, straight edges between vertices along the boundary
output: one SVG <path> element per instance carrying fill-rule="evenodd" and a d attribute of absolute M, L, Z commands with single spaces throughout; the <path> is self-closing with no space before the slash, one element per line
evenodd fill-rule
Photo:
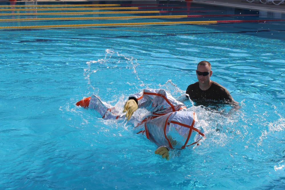
<path fill-rule="evenodd" d="M 28 9 L 0 9 L 0 11 L 88 11 L 88 10 L 124 10 L 124 9 L 186 9 L 187 7 L 93 7 L 93 8 L 28 8 Z"/>

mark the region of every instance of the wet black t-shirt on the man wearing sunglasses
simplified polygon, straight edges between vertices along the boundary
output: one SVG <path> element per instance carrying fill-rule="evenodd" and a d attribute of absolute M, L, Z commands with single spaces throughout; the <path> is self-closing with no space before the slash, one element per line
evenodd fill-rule
<path fill-rule="evenodd" d="M 186 94 L 189 95 L 192 101 L 204 101 L 204 100 L 214 100 L 214 101 L 233 101 L 229 91 L 219 83 L 212 81 L 212 85 L 207 90 L 201 90 L 199 87 L 199 82 L 190 84 L 187 87 Z"/>

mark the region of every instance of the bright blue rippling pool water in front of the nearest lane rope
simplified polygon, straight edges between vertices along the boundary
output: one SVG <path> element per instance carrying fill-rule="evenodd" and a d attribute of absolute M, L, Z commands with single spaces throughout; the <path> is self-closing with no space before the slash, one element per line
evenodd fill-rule
<path fill-rule="evenodd" d="M 259 14 L 201 20 L 284 19 Z M 0 189 L 284 189 L 284 31 L 284 22 L 1 30 Z M 241 108 L 186 102 L 206 138 L 169 161 L 131 122 L 75 105 L 94 93 L 122 108 L 144 88 L 180 99 L 202 60 Z"/>

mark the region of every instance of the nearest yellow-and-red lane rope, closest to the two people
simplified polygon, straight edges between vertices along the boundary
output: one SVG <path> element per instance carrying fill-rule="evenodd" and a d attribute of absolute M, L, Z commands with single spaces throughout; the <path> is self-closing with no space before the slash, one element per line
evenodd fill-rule
<path fill-rule="evenodd" d="M 176 25 L 176 24 L 222 24 L 222 23 L 266 23 L 285 21 L 285 19 L 271 20 L 231 20 L 231 21 L 184 21 L 184 22 L 153 22 L 153 23 L 107 23 L 107 24 L 64 24 L 44 26 L 0 26 L 0 29 L 47 29 L 47 28 L 78 28 L 91 26 L 138 26 L 138 25 Z"/>

